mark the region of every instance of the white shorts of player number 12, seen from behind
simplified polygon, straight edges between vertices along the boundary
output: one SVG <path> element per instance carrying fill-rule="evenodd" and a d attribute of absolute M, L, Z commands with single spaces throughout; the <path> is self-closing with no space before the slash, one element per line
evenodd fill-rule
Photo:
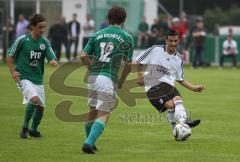
<path fill-rule="evenodd" d="M 88 105 L 97 110 L 111 112 L 115 105 L 116 85 L 103 75 L 88 78 Z"/>

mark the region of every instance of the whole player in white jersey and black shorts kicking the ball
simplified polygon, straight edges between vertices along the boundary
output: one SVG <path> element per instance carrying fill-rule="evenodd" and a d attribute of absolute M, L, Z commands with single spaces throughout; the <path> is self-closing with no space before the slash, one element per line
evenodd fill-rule
<path fill-rule="evenodd" d="M 200 120 L 187 119 L 181 95 L 175 88 L 174 82 L 178 81 L 182 86 L 194 92 L 202 92 L 204 86 L 193 85 L 184 79 L 183 60 L 176 51 L 179 34 L 175 30 L 168 30 L 165 39 L 166 45 L 152 46 L 136 58 L 137 82 L 140 86 L 145 86 L 149 101 L 160 113 L 167 110 L 168 120 L 173 127 L 176 123 L 185 123 L 190 127 L 195 127 Z M 147 65 L 144 76 L 143 65 Z"/>

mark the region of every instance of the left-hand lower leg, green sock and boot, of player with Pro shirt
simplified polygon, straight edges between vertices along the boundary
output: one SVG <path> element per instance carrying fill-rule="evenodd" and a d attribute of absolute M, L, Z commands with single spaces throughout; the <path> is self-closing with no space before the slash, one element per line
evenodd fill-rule
<path fill-rule="evenodd" d="M 24 124 L 23 124 L 23 127 L 20 132 L 21 138 L 27 138 L 27 136 L 28 136 L 28 125 L 29 125 L 29 121 L 32 118 L 33 112 L 34 112 L 34 105 L 32 105 L 31 103 L 28 103 L 26 106 Z"/>

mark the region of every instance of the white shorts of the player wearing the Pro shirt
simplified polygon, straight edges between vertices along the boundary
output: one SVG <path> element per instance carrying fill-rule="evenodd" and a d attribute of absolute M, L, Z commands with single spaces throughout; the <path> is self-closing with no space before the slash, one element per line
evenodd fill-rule
<path fill-rule="evenodd" d="M 45 94 L 43 85 L 36 85 L 27 79 L 23 79 L 20 81 L 20 84 L 17 84 L 17 86 L 23 94 L 23 104 L 27 104 L 31 98 L 38 96 L 41 102 L 41 106 L 45 106 Z"/>

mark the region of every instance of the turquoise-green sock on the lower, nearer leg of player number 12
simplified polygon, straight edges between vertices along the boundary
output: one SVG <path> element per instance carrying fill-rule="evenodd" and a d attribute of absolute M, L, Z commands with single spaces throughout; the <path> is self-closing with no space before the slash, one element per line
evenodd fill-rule
<path fill-rule="evenodd" d="M 91 146 L 94 146 L 94 143 L 97 141 L 97 139 L 102 135 L 103 130 L 105 128 L 105 122 L 102 120 L 97 119 L 88 135 L 88 138 L 84 141 L 84 143 L 89 144 Z"/>

